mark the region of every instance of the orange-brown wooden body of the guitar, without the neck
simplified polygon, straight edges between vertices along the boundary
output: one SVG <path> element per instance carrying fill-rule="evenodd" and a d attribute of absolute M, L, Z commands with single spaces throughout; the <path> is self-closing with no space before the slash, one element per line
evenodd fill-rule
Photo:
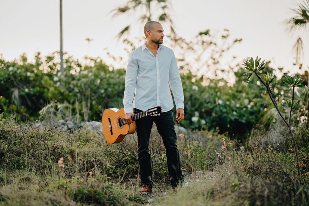
<path fill-rule="evenodd" d="M 125 109 L 106 109 L 102 116 L 102 126 L 105 139 L 108 143 L 119 143 L 127 134 L 133 134 L 136 129 L 136 123 L 126 124 L 123 121 L 125 118 Z M 122 125 L 123 124 L 123 125 Z"/>

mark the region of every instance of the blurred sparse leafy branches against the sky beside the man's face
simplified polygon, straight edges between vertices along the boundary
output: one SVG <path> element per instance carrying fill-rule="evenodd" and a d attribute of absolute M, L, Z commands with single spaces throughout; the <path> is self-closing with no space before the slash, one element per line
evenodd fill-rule
<path fill-rule="evenodd" d="M 222 32 L 214 32 L 210 29 L 199 32 L 191 40 L 182 37 L 174 37 L 172 48 L 177 52 L 178 66 L 182 73 L 191 71 L 198 76 L 203 75 L 207 78 L 223 78 L 233 82 L 234 62 L 229 59 L 229 65 L 223 59 L 227 59 L 226 54 L 242 39 L 230 39 L 230 31 L 224 29 Z"/>

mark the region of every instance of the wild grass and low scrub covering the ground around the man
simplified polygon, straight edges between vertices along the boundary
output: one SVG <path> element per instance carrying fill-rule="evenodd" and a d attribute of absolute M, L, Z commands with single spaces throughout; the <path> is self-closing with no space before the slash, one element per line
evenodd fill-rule
<path fill-rule="evenodd" d="M 306 128 L 297 131 L 300 176 L 291 143 L 279 135 L 284 131 L 253 130 L 243 147 L 216 132 L 179 134 L 185 182 L 173 193 L 154 129 L 155 188 L 143 195 L 134 134 L 110 145 L 100 131 L 38 129 L 2 119 L 0 205 L 307 205 L 309 134 Z M 280 137 L 274 141 L 272 134 Z"/>

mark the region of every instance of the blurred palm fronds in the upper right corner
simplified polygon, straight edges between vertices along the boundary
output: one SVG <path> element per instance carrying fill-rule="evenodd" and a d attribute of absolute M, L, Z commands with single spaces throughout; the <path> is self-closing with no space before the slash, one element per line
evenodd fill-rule
<path fill-rule="evenodd" d="M 307 25 L 309 24 L 309 0 L 303 0 L 302 3 L 298 4 L 297 9 L 292 9 L 294 11 L 295 16 L 291 19 L 287 20 L 287 25 L 289 27 L 290 32 L 293 32 L 298 29 L 307 29 Z M 301 37 L 298 37 L 296 43 L 294 44 L 293 50 L 296 54 L 295 64 L 299 64 L 301 68 L 302 64 L 300 64 L 300 59 L 303 56 L 303 41 Z M 309 88 L 309 76 L 308 76 L 308 88 Z"/>

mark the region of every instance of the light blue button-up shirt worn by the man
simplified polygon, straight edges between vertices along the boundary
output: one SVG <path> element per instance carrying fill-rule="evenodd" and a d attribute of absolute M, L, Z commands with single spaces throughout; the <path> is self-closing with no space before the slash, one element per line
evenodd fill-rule
<path fill-rule="evenodd" d="M 170 88 L 176 108 L 184 109 L 184 92 L 173 50 L 159 44 L 155 57 L 145 42 L 130 53 L 125 73 L 125 113 L 133 112 L 133 107 L 146 111 L 155 106 L 161 106 L 162 112 L 170 111 L 174 107 Z"/>

